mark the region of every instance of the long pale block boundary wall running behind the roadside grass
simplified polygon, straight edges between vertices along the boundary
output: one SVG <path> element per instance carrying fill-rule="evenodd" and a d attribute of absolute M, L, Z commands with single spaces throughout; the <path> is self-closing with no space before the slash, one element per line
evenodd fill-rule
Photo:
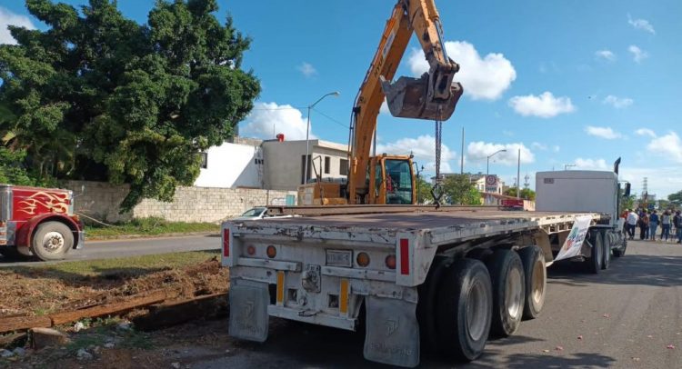
<path fill-rule="evenodd" d="M 286 204 L 286 195 L 295 191 L 251 188 L 177 187 L 172 203 L 145 199 L 132 212 L 118 214 L 118 205 L 128 192 L 127 185 L 70 181 L 65 188 L 74 191 L 75 212 L 106 223 L 157 216 L 174 222 L 220 222 L 238 216 L 251 207 Z M 84 191 L 81 192 L 81 189 Z"/>

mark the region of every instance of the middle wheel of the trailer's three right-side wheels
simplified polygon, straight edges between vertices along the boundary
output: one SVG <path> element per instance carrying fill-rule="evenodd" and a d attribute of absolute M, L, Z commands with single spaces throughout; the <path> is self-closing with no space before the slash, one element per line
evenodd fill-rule
<path fill-rule="evenodd" d="M 496 250 L 486 264 L 493 284 L 493 334 L 506 337 L 521 324 L 526 297 L 524 265 L 512 250 Z"/>

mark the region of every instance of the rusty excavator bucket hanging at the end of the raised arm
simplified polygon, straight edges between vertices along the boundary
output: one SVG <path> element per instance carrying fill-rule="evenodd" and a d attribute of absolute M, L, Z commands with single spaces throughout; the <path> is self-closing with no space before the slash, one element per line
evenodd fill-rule
<path fill-rule="evenodd" d="M 455 112 L 455 106 L 462 95 L 462 85 L 450 85 L 446 98 L 428 98 L 428 74 L 421 78 L 401 76 L 391 84 L 382 76 L 381 89 L 391 115 L 401 118 L 446 121 Z"/>

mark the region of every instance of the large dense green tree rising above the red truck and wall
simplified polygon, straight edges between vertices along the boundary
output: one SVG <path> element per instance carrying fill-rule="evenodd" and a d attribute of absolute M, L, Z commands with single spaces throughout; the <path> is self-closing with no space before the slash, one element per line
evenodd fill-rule
<path fill-rule="evenodd" d="M 26 6 L 49 28 L 10 26 L 18 45 L 0 45 L 0 104 L 14 115 L 0 136 L 40 177 L 130 184 L 122 210 L 193 184 L 197 153 L 232 135 L 260 92 L 240 69 L 250 40 L 221 25 L 216 0 L 159 0 L 147 25 L 111 0 Z"/>

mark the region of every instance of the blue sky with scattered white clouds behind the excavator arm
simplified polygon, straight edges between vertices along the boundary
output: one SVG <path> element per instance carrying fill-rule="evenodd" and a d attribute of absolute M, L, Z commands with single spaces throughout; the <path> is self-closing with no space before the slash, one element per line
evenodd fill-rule
<path fill-rule="evenodd" d="M 66 3 L 79 5 L 82 0 Z M 306 106 L 326 93 L 311 114 L 313 135 L 347 142 L 357 89 L 366 74 L 394 1 L 225 1 L 253 38 L 244 67 L 263 92 L 240 124 L 243 135 L 305 138 Z M 119 0 L 123 13 L 144 23 L 152 0 Z M 666 196 L 682 190 L 682 2 L 436 0 L 456 80 L 465 96 L 444 123 L 446 171 L 459 171 L 466 130 L 465 171 L 507 183 L 563 169 L 605 169 L 622 156 L 621 178 Z M 20 0 L 0 0 L 0 25 L 45 28 Z M 0 42 L 11 38 L 0 32 Z M 398 75 L 419 75 L 423 55 L 412 40 Z M 378 119 L 379 152 L 407 154 L 433 172 L 434 124 Z M 522 179 L 523 183 L 523 179 Z"/>

